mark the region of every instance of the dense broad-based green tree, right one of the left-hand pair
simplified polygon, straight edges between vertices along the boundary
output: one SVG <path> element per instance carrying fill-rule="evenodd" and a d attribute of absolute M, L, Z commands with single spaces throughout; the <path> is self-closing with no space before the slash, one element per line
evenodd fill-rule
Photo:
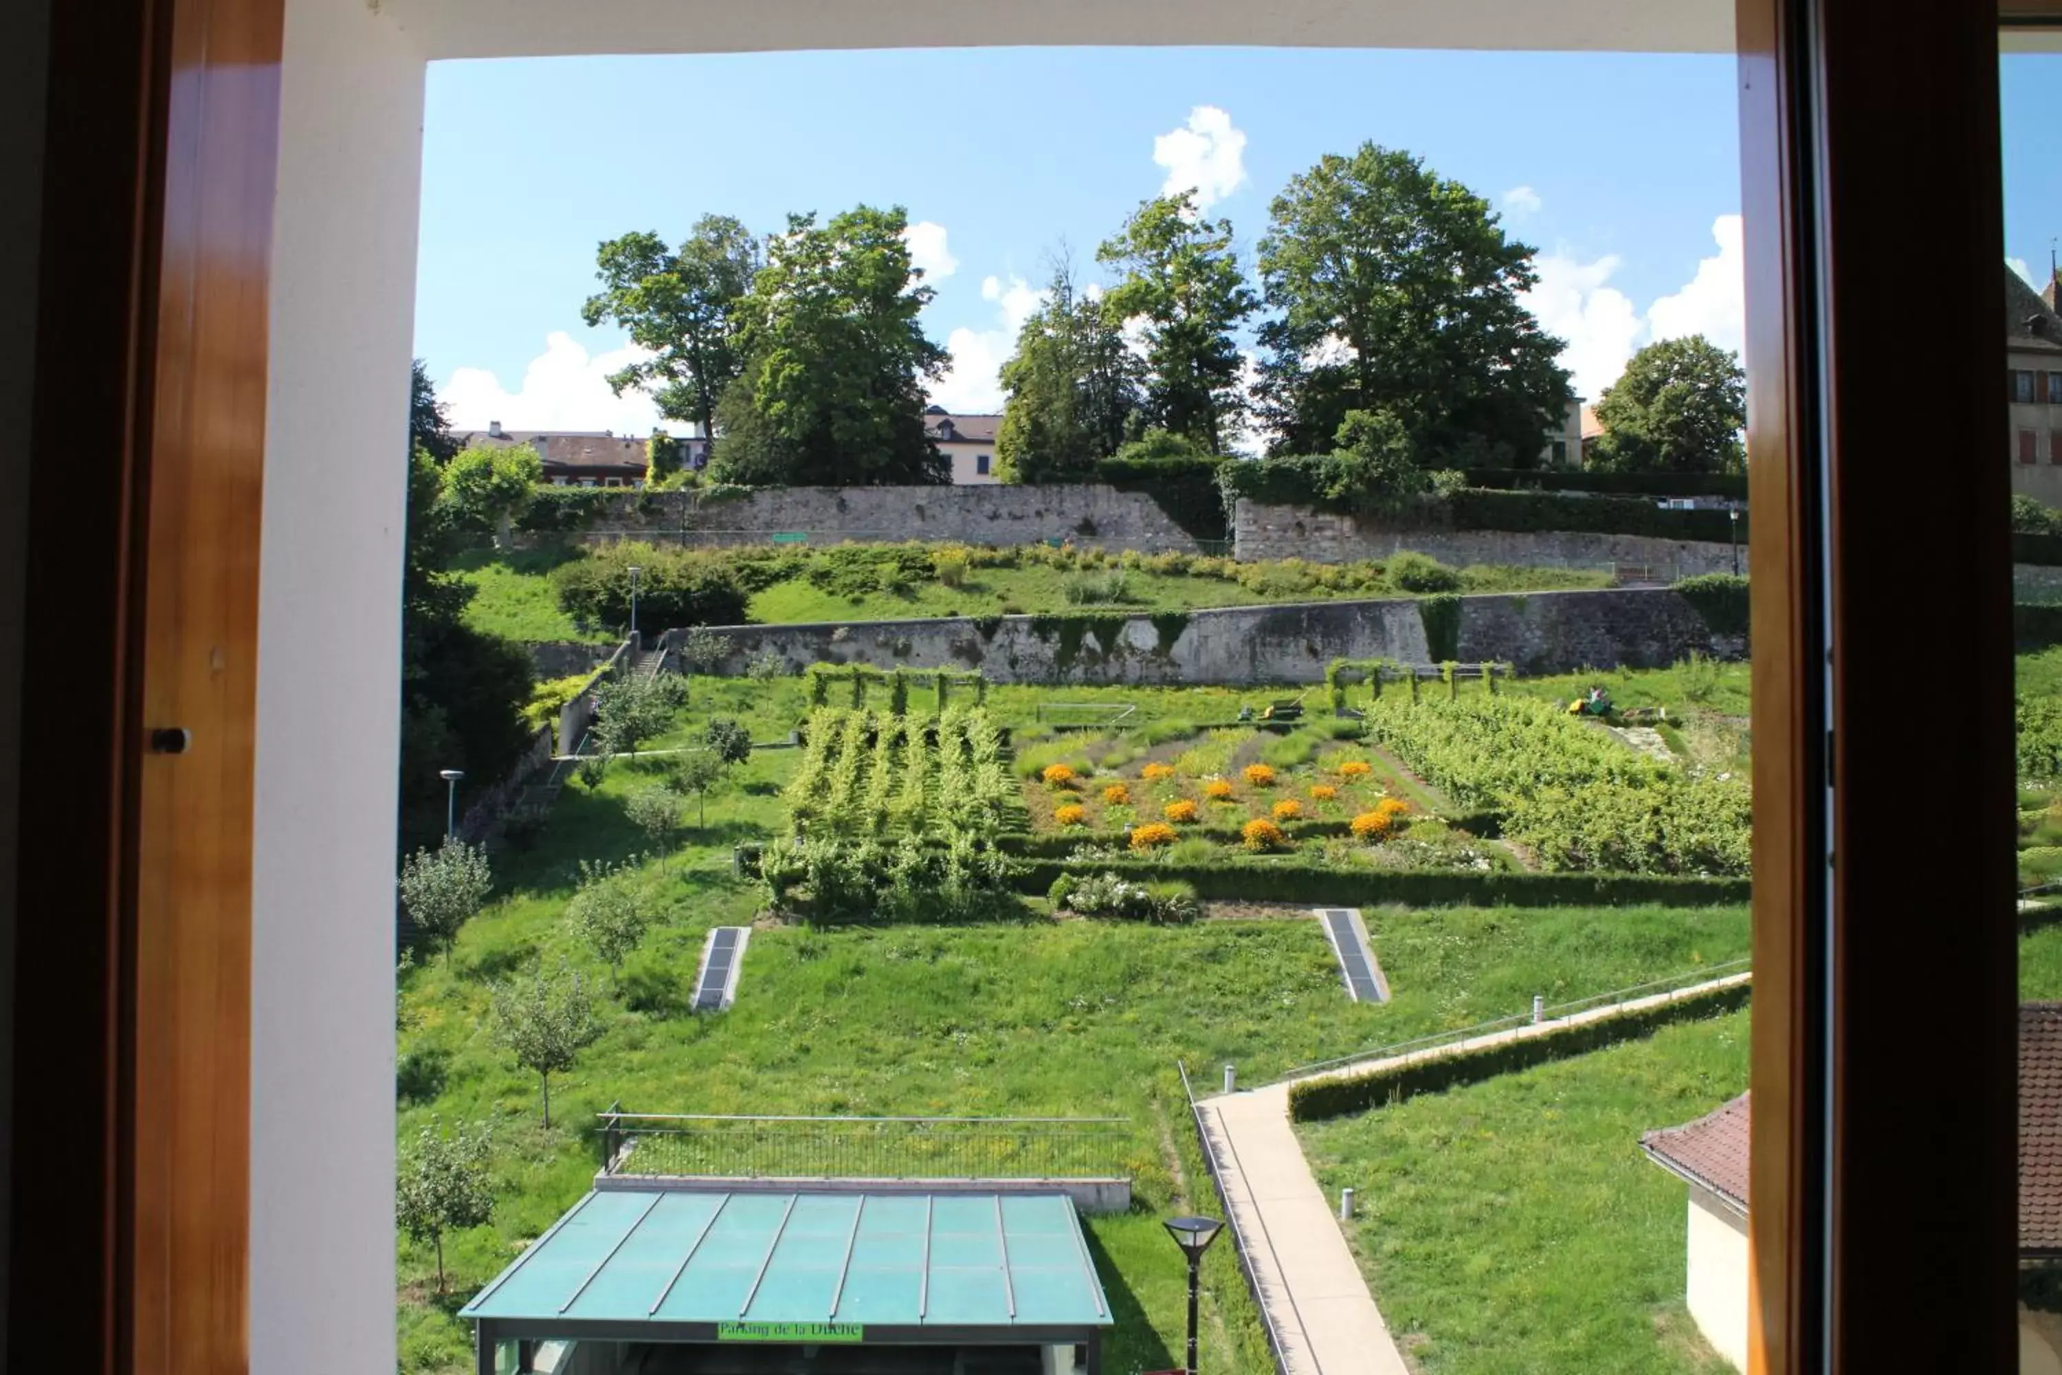
<path fill-rule="evenodd" d="M 742 375 L 718 406 L 711 476 L 790 487 L 949 482 L 924 433 L 924 383 L 946 353 L 918 315 L 932 299 L 909 262 L 901 206 L 819 225 L 790 214 L 736 303 Z"/>

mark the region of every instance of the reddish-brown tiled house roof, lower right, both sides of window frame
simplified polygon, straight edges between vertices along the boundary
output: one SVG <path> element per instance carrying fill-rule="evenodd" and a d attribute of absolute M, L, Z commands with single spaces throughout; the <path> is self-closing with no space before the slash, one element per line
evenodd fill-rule
<path fill-rule="evenodd" d="M 1639 1148 L 1747 1214 L 1749 1095 Z M 2062 1002 L 2019 1004 L 2019 1253 L 2062 1253 Z"/>

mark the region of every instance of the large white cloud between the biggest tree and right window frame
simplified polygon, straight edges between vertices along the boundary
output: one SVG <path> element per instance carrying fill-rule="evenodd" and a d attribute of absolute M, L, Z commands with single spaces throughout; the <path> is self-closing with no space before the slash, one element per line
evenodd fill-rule
<path fill-rule="evenodd" d="M 1608 284 L 1621 266 L 1615 254 L 1596 262 L 1567 254 L 1534 260 L 1540 280 L 1524 303 L 1542 330 L 1567 342 L 1561 367 L 1573 375 L 1577 396 L 1602 396 L 1641 344 L 1703 334 L 1720 348 L 1740 350 L 1747 338 L 1740 216 L 1720 214 L 1711 223 L 1711 239 L 1718 241 L 1718 256 L 1703 258 L 1691 280 L 1654 301 L 1645 315 Z"/>

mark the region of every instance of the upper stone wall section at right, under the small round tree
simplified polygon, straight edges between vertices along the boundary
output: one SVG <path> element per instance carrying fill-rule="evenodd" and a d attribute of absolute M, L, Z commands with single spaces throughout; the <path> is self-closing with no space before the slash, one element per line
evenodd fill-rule
<path fill-rule="evenodd" d="M 1388 559 L 1404 550 L 1431 555 L 1439 563 L 1507 563 L 1524 567 L 1602 567 L 1641 563 L 1658 577 L 1730 573 L 1732 544 L 1701 540 L 1658 540 L 1645 534 L 1584 534 L 1567 530 L 1427 530 L 1375 522 L 1359 515 L 1328 515 L 1307 507 L 1260 505 L 1241 499 L 1231 517 L 1237 559 L 1309 559 L 1311 563 L 1353 563 Z M 1740 546 L 1747 569 L 1747 546 Z"/>

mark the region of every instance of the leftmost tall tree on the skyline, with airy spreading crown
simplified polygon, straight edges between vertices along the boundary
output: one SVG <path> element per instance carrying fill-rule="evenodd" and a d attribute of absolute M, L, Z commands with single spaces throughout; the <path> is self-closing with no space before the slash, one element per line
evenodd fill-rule
<path fill-rule="evenodd" d="M 738 373 L 732 307 L 765 266 L 759 239 L 728 214 L 703 214 L 680 247 L 656 233 L 627 233 L 596 251 L 602 291 L 588 297 L 590 326 L 614 322 L 650 359 L 610 373 L 617 396 L 650 388 L 660 414 L 716 435 L 716 402 Z"/>

